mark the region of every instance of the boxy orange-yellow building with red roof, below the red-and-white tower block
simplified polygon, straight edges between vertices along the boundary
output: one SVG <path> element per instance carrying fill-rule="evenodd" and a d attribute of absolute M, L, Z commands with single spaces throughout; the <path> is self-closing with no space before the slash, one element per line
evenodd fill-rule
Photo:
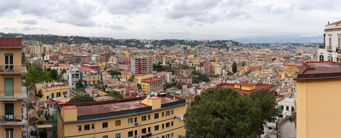
<path fill-rule="evenodd" d="M 161 92 L 162 89 L 162 78 L 150 78 L 141 80 L 142 91 L 145 93 Z"/>

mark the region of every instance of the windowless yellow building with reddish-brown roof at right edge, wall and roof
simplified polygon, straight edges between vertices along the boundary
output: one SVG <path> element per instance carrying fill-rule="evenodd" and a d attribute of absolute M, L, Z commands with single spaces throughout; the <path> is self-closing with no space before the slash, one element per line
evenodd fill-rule
<path fill-rule="evenodd" d="M 300 73 L 294 79 L 297 138 L 340 138 L 340 65 L 331 61 L 303 62 L 298 68 Z"/>

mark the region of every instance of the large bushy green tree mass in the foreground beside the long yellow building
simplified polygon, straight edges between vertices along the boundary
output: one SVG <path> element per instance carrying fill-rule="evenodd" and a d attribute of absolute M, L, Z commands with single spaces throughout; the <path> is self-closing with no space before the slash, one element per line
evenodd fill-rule
<path fill-rule="evenodd" d="M 274 122 L 282 109 L 275 108 L 268 90 L 240 95 L 236 90 L 207 90 L 194 97 L 185 114 L 187 138 L 256 138 L 265 122 Z"/>

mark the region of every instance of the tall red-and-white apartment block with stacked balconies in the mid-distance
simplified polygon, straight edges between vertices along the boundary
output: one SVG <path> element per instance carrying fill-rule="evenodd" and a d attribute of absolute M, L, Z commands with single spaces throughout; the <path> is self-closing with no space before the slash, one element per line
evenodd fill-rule
<path fill-rule="evenodd" d="M 133 74 L 152 74 L 153 60 L 149 56 L 132 57 L 131 70 Z"/>

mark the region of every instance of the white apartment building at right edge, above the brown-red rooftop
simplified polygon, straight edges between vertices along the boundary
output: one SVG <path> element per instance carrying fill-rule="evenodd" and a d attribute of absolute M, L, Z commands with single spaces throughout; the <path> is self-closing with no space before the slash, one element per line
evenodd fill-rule
<path fill-rule="evenodd" d="M 318 45 L 319 61 L 334 61 L 341 63 L 341 20 L 324 27 L 323 45 Z"/>

